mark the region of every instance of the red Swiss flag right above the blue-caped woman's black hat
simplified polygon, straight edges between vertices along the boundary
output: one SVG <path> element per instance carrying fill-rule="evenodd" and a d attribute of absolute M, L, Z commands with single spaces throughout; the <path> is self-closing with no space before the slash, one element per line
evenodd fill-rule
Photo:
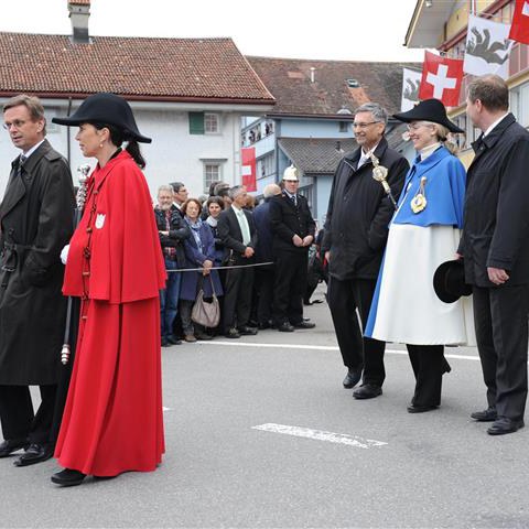
<path fill-rule="evenodd" d="M 425 52 L 419 99 L 439 99 L 446 107 L 460 104 L 463 61 Z"/>

